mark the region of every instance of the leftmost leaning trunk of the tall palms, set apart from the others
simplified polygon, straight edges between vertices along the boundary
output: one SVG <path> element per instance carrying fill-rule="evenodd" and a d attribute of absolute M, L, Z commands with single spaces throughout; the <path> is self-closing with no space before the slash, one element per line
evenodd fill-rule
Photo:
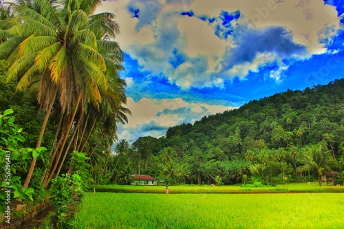
<path fill-rule="evenodd" d="M 39 146 L 41 146 L 41 142 L 43 140 L 43 134 L 45 132 L 45 127 L 47 127 L 47 121 L 49 120 L 50 113 L 52 113 L 52 107 L 54 105 L 56 94 L 57 94 L 57 88 L 54 91 L 54 96 L 52 96 L 52 99 L 50 100 L 49 107 L 47 108 L 47 113 L 45 113 L 45 117 L 44 117 L 44 120 L 42 123 L 41 131 L 39 132 L 39 138 L 37 139 L 36 149 L 39 148 Z M 32 173 L 34 172 L 34 166 L 36 165 L 36 160 L 37 160 L 37 157 L 32 158 L 32 162 L 31 162 L 30 169 L 28 172 L 28 177 L 26 177 L 26 179 L 25 179 L 23 188 L 28 188 L 28 186 L 30 184 Z"/>

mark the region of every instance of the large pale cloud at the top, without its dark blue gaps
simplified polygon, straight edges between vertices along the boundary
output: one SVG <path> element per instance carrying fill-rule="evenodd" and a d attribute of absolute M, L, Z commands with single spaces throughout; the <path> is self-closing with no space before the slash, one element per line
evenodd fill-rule
<path fill-rule="evenodd" d="M 132 18 L 128 6 L 140 10 L 139 19 Z M 327 52 L 325 43 L 331 42 L 340 28 L 336 10 L 322 0 L 126 0 L 105 1 L 99 10 L 117 14 L 122 28 L 118 42 L 125 52 L 138 60 L 143 70 L 153 74 L 163 73 L 171 83 L 183 89 L 223 87 L 224 80 L 235 76 L 244 79 L 248 72 L 257 72 L 259 67 L 270 65 L 269 56 L 275 54 L 277 63 L 283 63 L 283 59 L 323 54 Z M 241 17 L 237 23 L 231 23 L 233 34 L 219 39 L 214 33 L 217 26 L 222 26 L 221 21 L 208 23 L 197 17 L 180 15 L 180 12 L 189 10 L 193 10 L 195 15 L 207 17 L 219 17 L 222 10 L 239 10 Z M 273 50 L 261 50 L 264 53 L 261 56 L 257 49 L 246 62 L 228 62 L 233 60 L 226 59 L 226 56 L 235 47 L 239 45 L 235 54 L 244 48 L 239 39 L 242 34 L 274 27 L 290 32 L 288 39 L 306 47 L 308 53 L 279 56 Z M 174 68 L 169 60 L 173 58 L 175 49 L 184 54 L 184 63 Z M 280 80 L 286 69 L 288 66 L 282 64 L 271 77 Z"/>

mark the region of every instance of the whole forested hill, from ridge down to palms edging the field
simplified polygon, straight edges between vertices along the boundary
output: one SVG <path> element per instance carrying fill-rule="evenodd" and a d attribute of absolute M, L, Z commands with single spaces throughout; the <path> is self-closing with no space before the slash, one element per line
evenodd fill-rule
<path fill-rule="evenodd" d="M 138 138 L 133 171 L 189 184 L 320 179 L 344 170 L 343 115 L 344 79 L 288 90 Z"/>

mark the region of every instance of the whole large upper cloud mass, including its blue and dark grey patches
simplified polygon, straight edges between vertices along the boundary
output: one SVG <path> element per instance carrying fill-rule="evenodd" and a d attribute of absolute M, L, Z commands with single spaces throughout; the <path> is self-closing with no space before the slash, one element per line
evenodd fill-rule
<path fill-rule="evenodd" d="M 120 25 L 135 22 L 124 23 L 131 32 L 118 37 L 123 50 L 143 71 L 182 89 L 222 88 L 270 65 L 276 65 L 270 78 L 279 81 L 294 61 L 325 53 L 340 28 L 336 9 L 322 0 L 129 0 L 122 6 Z"/>

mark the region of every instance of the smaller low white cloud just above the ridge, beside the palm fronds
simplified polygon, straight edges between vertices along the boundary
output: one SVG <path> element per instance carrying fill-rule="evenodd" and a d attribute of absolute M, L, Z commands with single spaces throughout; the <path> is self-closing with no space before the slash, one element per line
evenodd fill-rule
<path fill-rule="evenodd" d="M 186 102 L 182 98 L 148 99 L 134 101 L 127 98 L 127 108 L 132 112 L 128 124 L 118 126 L 118 138 L 133 142 L 142 135 L 160 137 L 167 128 L 184 122 L 192 123 L 203 116 L 233 109 L 220 105 Z"/>

